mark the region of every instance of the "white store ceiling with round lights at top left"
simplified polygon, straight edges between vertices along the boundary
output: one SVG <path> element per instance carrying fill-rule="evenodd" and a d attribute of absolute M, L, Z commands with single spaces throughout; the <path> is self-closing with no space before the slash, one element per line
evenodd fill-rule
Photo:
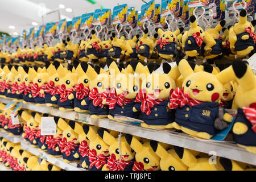
<path fill-rule="evenodd" d="M 60 9 L 61 19 L 72 19 L 73 16 L 79 16 L 84 13 L 93 12 L 95 9 L 104 8 L 112 9 L 114 6 L 127 3 L 128 7 L 134 6 L 136 10 L 141 10 L 143 2 L 141 0 L 94 0 L 97 3 L 92 4 L 86 0 L 1 0 L 0 1 L 0 31 L 13 34 L 18 32 L 22 34 L 24 29 L 29 30 L 32 22 L 42 24 L 42 17 L 39 16 L 42 12 L 42 7 L 39 4 L 46 6 L 46 12 L 59 9 L 59 5 L 63 4 L 65 9 L 71 8 L 73 11 L 68 13 L 65 9 Z M 149 0 L 146 0 L 149 1 Z M 161 0 L 156 0 L 160 3 Z M 55 20 L 57 21 L 57 19 Z M 15 26 L 15 30 L 11 30 L 9 26 Z"/>

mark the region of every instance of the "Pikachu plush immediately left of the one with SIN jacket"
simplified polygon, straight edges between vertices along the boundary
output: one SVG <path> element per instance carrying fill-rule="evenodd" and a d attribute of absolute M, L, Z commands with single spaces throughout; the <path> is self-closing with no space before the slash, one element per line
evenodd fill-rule
<path fill-rule="evenodd" d="M 154 127 L 158 129 L 171 129 L 175 119 L 174 110 L 168 109 L 169 97 L 176 88 L 175 80 L 179 77 L 177 67 L 171 69 L 166 63 L 163 69 L 166 73 L 154 73 L 152 64 L 144 67 L 138 61 L 131 61 L 135 72 L 142 77 L 142 84 L 133 111 L 141 111 L 143 127 Z M 153 64 L 154 66 L 154 64 Z M 151 70 L 151 72 L 150 72 Z"/>

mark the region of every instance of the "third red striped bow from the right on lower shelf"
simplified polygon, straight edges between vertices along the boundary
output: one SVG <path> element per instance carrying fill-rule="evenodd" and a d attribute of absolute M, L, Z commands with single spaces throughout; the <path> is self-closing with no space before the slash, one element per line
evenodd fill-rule
<path fill-rule="evenodd" d="M 88 157 L 90 161 L 89 168 L 95 166 L 97 169 L 100 169 L 104 164 L 106 164 L 106 157 L 104 154 L 97 155 L 97 152 L 94 149 L 89 151 Z"/>

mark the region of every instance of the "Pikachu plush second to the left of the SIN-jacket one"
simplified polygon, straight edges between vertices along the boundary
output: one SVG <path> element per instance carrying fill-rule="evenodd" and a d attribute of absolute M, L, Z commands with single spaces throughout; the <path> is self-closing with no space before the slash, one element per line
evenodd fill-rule
<path fill-rule="evenodd" d="M 107 65 L 110 78 L 113 81 L 106 101 L 109 105 L 108 117 L 114 119 L 115 114 L 117 114 L 138 119 L 139 111 L 133 112 L 133 107 L 135 97 L 141 88 L 139 78 L 127 73 L 124 69 L 120 71 L 115 61 L 110 58 L 107 59 Z"/>

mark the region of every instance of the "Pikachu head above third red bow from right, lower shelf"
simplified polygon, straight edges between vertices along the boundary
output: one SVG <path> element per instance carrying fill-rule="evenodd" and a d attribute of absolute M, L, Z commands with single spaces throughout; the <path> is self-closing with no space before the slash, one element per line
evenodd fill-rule
<path fill-rule="evenodd" d="M 84 133 L 90 140 L 90 150 L 95 150 L 97 155 L 109 156 L 109 145 L 88 125 L 83 125 Z"/>

